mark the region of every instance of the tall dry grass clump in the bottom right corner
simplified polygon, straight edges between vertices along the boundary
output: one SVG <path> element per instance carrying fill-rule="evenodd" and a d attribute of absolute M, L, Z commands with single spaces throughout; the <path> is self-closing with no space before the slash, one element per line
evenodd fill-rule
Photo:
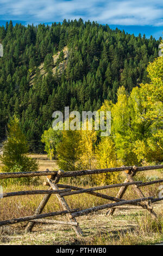
<path fill-rule="evenodd" d="M 136 217 L 134 229 L 119 230 L 92 237 L 87 245 L 155 245 L 163 241 L 163 210 L 158 218 L 144 214 Z"/>

